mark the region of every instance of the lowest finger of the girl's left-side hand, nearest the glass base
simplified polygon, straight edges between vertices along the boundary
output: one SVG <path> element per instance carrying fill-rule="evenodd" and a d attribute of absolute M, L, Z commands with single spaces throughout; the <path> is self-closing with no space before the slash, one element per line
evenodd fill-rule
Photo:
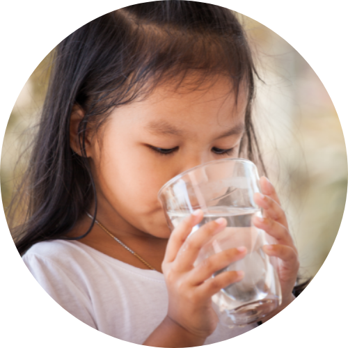
<path fill-rule="evenodd" d="M 198 300 L 207 299 L 216 292 L 219 292 L 223 287 L 227 287 L 232 283 L 237 283 L 244 277 L 243 271 L 226 271 L 222 272 L 214 278 L 210 278 L 202 285 L 196 287 L 196 296 Z"/>

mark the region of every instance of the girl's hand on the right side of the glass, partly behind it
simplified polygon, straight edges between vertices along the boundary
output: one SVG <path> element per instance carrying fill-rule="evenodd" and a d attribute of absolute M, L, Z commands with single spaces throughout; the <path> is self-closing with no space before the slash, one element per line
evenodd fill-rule
<path fill-rule="evenodd" d="M 282 290 L 282 309 L 294 299 L 292 289 L 299 271 L 299 256 L 274 186 L 266 177 L 261 177 L 260 184 L 263 194 L 255 193 L 254 199 L 263 208 L 263 218 L 255 216 L 253 223 L 276 239 L 277 244 L 264 246 L 264 252 L 280 259 L 278 276 Z"/>

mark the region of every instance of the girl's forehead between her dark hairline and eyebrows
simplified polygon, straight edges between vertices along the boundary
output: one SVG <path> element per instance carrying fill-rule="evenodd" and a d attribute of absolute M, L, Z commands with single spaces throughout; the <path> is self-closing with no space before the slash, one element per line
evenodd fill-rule
<path fill-rule="evenodd" d="M 116 109 L 118 122 L 134 127 L 141 126 L 148 132 L 179 135 L 180 129 L 200 127 L 230 127 L 231 123 L 244 127 L 247 91 L 237 93 L 226 78 L 192 84 L 184 81 L 180 86 L 161 84 L 142 100 Z"/>

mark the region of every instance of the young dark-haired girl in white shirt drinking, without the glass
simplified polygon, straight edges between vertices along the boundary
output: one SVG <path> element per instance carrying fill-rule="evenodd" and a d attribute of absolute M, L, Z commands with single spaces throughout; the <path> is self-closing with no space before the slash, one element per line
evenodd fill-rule
<path fill-rule="evenodd" d="M 165 182 L 207 161 L 248 157 L 263 166 L 251 118 L 255 76 L 235 15 L 205 3 L 122 8 L 58 45 L 17 198 L 27 210 L 15 240 L 65 310 L 155 347 L 219 342 L 257 326 L 228 329 L 212 310 L 212 295 L 243 277 L 212 274 L 243 258 L 245 248 L 193 267 L 226 220 L 187 239 L 203 213 L 171 233 L 157 200 Z M 276 238 L 264 251 L 280 259 L 283 303 L 272 317 L 294 299 L 299 261 L 274 187 L 265 177 L 261 187 L 255 201 L 264 218 L 253 223 Z"/>

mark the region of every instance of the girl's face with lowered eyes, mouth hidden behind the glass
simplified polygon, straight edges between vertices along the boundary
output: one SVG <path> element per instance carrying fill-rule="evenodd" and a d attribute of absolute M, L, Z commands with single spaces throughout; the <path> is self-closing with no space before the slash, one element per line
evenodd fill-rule
<path fill-rule="evenodd" d="M 98 215 L 122 231 L 168 238 L 157 200 L 162 185 L 193 166 L 238 156 L 246 93 L 239 92 L 236 104 L 230 90 L 224 78 L 196 90 L 166 84 L 145 100 L 115 109 L 101 141 L 93 138 L 88 150 Z"/>

